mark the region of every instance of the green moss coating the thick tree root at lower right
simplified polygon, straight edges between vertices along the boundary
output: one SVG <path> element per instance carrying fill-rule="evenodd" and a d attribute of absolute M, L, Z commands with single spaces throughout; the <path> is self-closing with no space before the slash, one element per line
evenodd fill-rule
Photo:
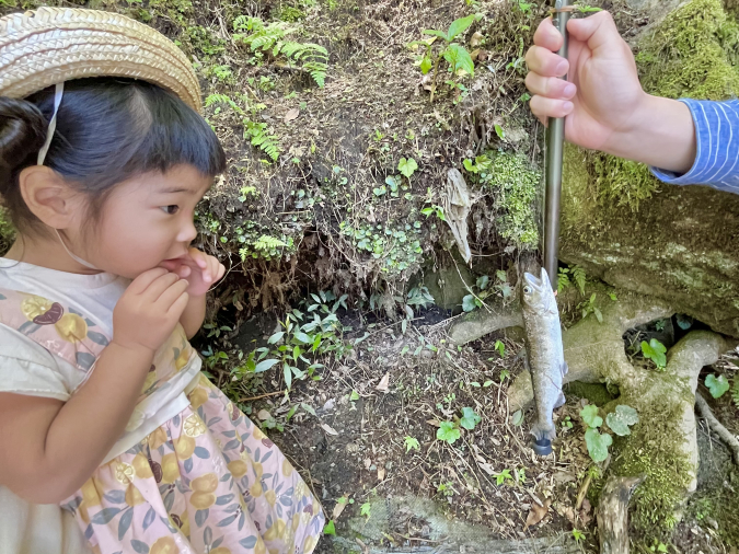
<path fill-rule="evenodd" d="M 610 473 L 646 475 L 634 493 L 632 526 L 637 538 L 665 536 L 677 523 L 676 508 L 684 500 L 695 470 L 681 451 L 682 406 L 644 406 L 638 399 L 622 399 L 621 403 L 638 406 L 640 422 L 649 425 L 639 423 L 632 429 L 631 437 L 615 441 Z"/>

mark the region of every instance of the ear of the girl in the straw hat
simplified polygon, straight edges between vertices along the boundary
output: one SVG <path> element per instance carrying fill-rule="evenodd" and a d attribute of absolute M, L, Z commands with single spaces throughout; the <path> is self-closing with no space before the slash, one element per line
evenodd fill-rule
<path fill-rule="evenodd" d="M 54 170 L 32 165 L 20 175 L 23 200 L 42 222 L 53 229 L 68 229 L 79 221 L 82 196 L 73 191 Z"/>

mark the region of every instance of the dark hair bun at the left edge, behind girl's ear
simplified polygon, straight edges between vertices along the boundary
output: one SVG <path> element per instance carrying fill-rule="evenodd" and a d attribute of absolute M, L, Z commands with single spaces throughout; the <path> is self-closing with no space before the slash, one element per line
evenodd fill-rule
<path fill-rule="evenodd" d="M 35 104 L 0 96 L 0 178 L 5 181 L 0 187 L 7 185 L 14 168 L 42 149 L 47 128 L 48 122 Z"/>

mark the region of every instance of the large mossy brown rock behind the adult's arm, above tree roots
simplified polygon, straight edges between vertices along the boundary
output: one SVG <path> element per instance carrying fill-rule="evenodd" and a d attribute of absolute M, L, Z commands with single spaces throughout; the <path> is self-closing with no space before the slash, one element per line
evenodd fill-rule
<path fill-rule="evenodd" d="M 720 0 L 683 4 L 639 41 L 645 90 L 672 99 L 735 96 L 738 37 Z M 739 336 L 739 196 L 665 185 L 644 164 L 571 146 L 563 186 L 565 262 Z"/>

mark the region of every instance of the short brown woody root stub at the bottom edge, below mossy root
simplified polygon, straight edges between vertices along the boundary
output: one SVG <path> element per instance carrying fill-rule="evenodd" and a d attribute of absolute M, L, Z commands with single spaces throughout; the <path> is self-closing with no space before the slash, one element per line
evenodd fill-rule
<path fill-rule="evenodd" d="M 600 554 L 628 554 L 628 500 L 645 476 L 610 477 L 598 504 Z"/>

